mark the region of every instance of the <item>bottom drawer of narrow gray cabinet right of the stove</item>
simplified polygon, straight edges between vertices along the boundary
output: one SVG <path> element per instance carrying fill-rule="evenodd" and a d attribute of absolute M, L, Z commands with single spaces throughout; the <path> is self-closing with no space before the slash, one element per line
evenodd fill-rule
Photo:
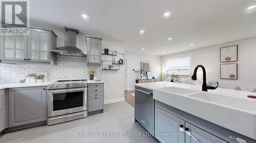
<path fill-rule="evenodd" d="M 88 111 L 103 109 L 103 96 L 88 98 Z"/>

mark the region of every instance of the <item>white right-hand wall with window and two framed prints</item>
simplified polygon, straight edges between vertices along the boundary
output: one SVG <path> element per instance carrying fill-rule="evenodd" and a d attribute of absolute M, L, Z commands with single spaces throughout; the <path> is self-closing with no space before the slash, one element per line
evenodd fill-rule
<path fill-rule="evenodd" d="M 220 79 L 220 47 L 231 45 L 238 45 L 238 62 L 230 62 L 238 63 L 238 80 Z M 165 58 L 186 54 L 191 54 L 191 74 L 200 64 L 206 69 L 207 81 L 218 80 L 220 88 L 233 89 L 234 85 L 244 91 L 256 88 L 256 37 L 165 55 L 161 58 L 162 64 Z"/>

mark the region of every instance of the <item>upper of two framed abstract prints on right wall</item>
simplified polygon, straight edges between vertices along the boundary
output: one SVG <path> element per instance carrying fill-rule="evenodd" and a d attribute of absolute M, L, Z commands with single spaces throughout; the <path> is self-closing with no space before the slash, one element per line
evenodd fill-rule
<path fill-rule="evenodd" d="M 238 45 L 220 48 L 220 62 L 237 62 L 238 61 Z"/>

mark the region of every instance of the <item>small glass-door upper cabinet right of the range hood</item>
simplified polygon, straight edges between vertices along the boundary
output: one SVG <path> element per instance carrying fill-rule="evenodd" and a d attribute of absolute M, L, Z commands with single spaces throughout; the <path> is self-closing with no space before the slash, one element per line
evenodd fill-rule
<path fill-rule="evenodd" d="M 101 38 L 86 37 L 88 66 L 101 66 L 101 40 Z"/>

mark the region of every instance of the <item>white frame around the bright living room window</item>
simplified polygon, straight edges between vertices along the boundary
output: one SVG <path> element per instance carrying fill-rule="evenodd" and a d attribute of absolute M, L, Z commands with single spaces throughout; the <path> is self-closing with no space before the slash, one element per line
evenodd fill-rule
<path fill-rule="evenodd" d="M 168 57 L 168 58 L 165 58 L 164 59 L 164 65 L 165 65 L 165 75 L 166 76 L 169 76 L 169 75 L 172 75 L 172 74 L 167 74 L 167 68 L 166 68 L 166 60 L 169 60 L 169 59 L 177 59 L 177 58 L 182 58 L 182 57 L 186 57 L 186 56 L 189 56 L 189 59 L 190 59 L 190 65 L 189 67 L 174 67 L 172 70 L 178 70 L 178 71 L 181 71 L 181 70 L 189 70 L 189 75 L 185 75 L 185 74 L 178 74 L 179 76 L 191 76 L 191 72 L 190 72 L 190 69 L 191 69 L 191 54 L 185 54 L 185 55 L 180 55 L 180 56 L 172 56 L 172 57 Z"/>

